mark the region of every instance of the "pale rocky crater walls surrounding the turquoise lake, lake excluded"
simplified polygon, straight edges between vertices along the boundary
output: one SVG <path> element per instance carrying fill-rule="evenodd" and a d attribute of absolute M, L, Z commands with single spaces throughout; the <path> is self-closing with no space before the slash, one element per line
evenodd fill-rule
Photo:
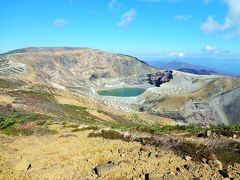
<path fill-rule="evenodd" d="M 23 81 L 27 85 L 20 89 L 24 91 L 41 87 L 47 93 L 87 97 L 124 111 L 146 112 L 180 122 L 240 122 L 239 78 L 159 70 L 137 58 L 96 49 L 14 50 L 0 56 L 0 77 Z M 97 93 L 99 89 L 118 87 L 141 87 L 146 91 L 137 97 Z"/>

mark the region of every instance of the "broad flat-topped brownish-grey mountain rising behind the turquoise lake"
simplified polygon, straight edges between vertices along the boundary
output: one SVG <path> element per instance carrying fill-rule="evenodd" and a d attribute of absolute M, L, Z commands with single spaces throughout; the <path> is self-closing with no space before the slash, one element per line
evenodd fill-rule
<path fill-rule="evenodd" d="M 2 75 L 16 76 L 22 73 L 22 78 L 34 82 L 54 82 L 63 86 L 77 85 L 83 81 L 138 76 L 154 71 L 156 69 L 137 58 L 88 48 L 15 50 L 1 57 L 0 69 Z"/>

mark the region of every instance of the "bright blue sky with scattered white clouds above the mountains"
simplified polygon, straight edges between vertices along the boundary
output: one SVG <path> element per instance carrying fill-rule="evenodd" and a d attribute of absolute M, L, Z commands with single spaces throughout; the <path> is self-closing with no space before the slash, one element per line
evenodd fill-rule
<path fill-rule="evenodd" d="M 32 46 L 238 58 L 240 1 L 1 0 L 0 53 Z"/>

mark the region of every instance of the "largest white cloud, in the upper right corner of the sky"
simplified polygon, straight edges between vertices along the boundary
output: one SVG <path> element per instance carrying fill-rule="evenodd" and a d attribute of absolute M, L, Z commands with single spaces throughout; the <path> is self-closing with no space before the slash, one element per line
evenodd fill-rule
<path fill-rule="evenodd" d="M 240 36 L 240 2 L 239 0 L 224 0 L 228 6 L 228 13 L 224 19 L 224 23 L 219 23 L 215 17 L 209 16 L 201 25 L 201 29 L 205 33 L 224 32 L 226 30 L 232 30 L 232 33 L 228 33 L 224 36 L 225 39 L 232 38 L 234 36 Z"/>

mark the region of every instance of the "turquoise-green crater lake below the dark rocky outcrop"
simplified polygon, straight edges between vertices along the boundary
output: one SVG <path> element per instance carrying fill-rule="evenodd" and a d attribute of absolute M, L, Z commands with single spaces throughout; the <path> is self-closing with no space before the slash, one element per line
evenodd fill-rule
<path fill-rule="evenodd" d="M 143 88 L 116 88 L 110 90 L 100 90 L 97 93 L 102 96 L 134 97 L 144 93 Z"/>

